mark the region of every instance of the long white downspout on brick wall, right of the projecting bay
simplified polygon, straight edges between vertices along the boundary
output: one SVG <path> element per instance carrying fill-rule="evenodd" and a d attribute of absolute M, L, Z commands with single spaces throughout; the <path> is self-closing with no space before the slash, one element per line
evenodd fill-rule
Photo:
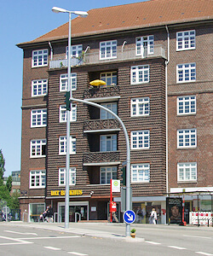
<path fill-rule="evenodd" d="M 166 168 L 166 193 L 169 193 L 169 148 L 168 148 L 168 64 L 170 62 L 170 32 L 168 26 L 165 26 L 167 32 L 167 61 L 165 61 L 165 168 Z"/>

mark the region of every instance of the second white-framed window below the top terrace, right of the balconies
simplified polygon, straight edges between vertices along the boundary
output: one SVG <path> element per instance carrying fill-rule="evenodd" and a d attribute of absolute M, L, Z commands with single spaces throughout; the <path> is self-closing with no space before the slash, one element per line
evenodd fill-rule
<path fill-rule="evenodd" d="M 131 99 L 131 116 L 149 115 L 149 97 Z"/>

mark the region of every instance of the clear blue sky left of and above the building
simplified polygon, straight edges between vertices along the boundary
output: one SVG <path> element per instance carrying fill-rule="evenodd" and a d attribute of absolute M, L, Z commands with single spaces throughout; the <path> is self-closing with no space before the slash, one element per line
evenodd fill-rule
<path fill-rule="evenodd" d="M 54 6 L 88 11 L 144 0 L 7 0 L 0 15 L 0 149 L 5 159 L 4 176 L 20 171 L 21 97 L 23 50 L 16 44 L 31 41 L 68 21 L 67 14 L 55 14 Z M 75 15 L 72 15 L 74 18 Z"/>

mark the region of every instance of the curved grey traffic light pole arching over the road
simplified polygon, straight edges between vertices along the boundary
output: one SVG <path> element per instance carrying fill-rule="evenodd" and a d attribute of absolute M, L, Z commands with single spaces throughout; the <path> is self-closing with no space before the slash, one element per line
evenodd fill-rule
<path fill-rule="evenodd" d="M 89 101 L 85 101 L 85 100 L 78 100 L 76 98 L 73 98 L 72 96 L 70 97 L 70 101 L 72 102 L 82 102 L 84 104 L 87 105 L 91 105 L 94 106 L 96 108 L 101 108 L 105 111 L 107 111 L 108 113 L 111 113 L 112 116 L 114 116 L 119 124 L 122 126 L 123 131 L 124 131 L 124 137 L 125 137 L 125 141 L 126 141 L 126 211 L 131 210 L 131 191 L 130 191 L 130 139 L 128 136 L 128 133 L 126 131 L 126 127 L 123 123 L 123 121 L 118 117 L 118 115 L 116 113 L 113 113 L 110 109 L 105 108 L 95 102 L 89 102 Z M 126 233 L 125 236 L 130 236 L 130 224 L 126 224 Z"/>

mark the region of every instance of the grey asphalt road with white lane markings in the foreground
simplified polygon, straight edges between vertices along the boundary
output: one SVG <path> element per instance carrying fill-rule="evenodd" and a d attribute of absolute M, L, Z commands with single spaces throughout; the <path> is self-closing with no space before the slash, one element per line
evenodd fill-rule
<path fill-rule="evenodd" d="M 124 237 L 124 224 L 70 224 L 69 230 L 63 226 L 0 223 L 0 255 L 213 256 L 212 227 L 132 224 L 138 237 L 134 240 Z"/>

